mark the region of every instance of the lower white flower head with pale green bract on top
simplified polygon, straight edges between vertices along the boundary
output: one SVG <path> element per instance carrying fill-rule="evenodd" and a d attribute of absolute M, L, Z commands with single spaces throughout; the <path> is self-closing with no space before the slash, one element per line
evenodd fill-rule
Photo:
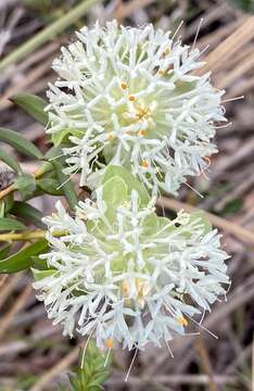
<path fill-rule="evenodd" d="M 38 298 L 66 335 L 92 333 L 98 346 L 160 346 L 229 283 L 217 231 L 199 215 L 157 217 L 134 180 L 114 176 L 75 217 L 59 201 L 45 218 L 51 250 L 41 255 L 49 269 L 35 273 Z"/>

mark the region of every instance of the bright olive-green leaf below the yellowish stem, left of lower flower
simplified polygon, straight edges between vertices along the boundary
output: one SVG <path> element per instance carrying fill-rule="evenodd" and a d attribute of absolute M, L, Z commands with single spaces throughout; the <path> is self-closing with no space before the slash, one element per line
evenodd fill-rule
<path fill-rule="evenodd" d="M 24 245 L 16 254 L 0 261 L 0 273 L 16 273 L 31 265 L 31 256 L 45 253 L 49 249 L 46 239 L 38 240 L 30 245 Z"/>

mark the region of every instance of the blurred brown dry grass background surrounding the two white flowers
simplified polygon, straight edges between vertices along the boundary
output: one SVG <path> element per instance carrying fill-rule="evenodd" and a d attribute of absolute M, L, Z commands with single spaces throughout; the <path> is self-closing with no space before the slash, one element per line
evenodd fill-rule
<path fill-rule="evenodd" d="M 208 45 L 203 58 L 213 71 L 214 85 L 227 91 L 225 108 L 231 123 L 217 129 L 219 153 L 213 156 L 208 172 L 182 186 L 181 204 L 170 198 L 160 202 L 169 216 L 182 206 L 204 209 L 224 234 L 224 245 L 231 254 L 232 286 L 227 302 L 217 303 L 204 323 L 218 340 L 204 330 L 199 337 L 176 338 L 174 358 L 165 346 L 149 348 L 138 354 L 127 383 L 124 377 L 131 354 L 116 350 L 105 389 L 254 390 L 254 2 L 93 0 L 75 13 L 82 3 L 86 1 L 0 0 L 0 56 L 9 58 L 4 70 L 0 60 L 0 126 L 21 131 L 47 151 L 43 127 L 9 98 L 22 91 L 46 98 L 48 83 L 55 79 L 51 63 L 60 47 L 73 41 L 81 26 L 112 18 L 134 26 L 151 22 L 172 31 L 183 21 L 177 36 L 187 45 L 192 45 L 203 18 L 196 46 L 202 50 Z M 47 37 L 36 40 L 45 29 Z M 34 43 L 24 50 L 31 38 Z M 233 100 L 241 96 L 244 99 Z M 10 152 L 15 153 L 11 147 Z M 25 172 L 36 171 L 31 160 L 17 154 L 16 159 Z M 49 214 L 54 201 L 48 195 L 33 202 Z M 66 390 L 67 373 L 78 363 L 79 341 L 69 341 L 61 328 L 51 325 L 25 273 L 0 280 L 0 390 Z"/>

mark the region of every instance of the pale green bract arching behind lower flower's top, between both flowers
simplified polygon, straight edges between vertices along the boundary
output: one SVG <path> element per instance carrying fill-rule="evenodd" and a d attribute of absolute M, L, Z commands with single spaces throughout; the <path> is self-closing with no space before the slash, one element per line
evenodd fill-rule
<path fill-rule="evenodd" d="M 136 179 L 135 176 L 131 175 L 128 169 L 116 165 L 110 165 L 106 168 L 105 175 L 103 177 L 103 184 L 105 184 L 109 179 L 111 179 L 114 176 L 118 176 L 125 181 L 129 195 L 131 193 L 131 190 L 137 190 L 141 203 L 145 205 L 149 203 L 150 197 L 145 187 L 138 179 Z"/>

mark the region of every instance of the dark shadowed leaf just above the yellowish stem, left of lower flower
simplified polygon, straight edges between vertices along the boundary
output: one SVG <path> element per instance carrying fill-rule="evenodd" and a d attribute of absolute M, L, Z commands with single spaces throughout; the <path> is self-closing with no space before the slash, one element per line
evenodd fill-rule
<path fill-rule="evenodd" d="M 34 224 L 36 227 L 45 228 L 45 224 L 41 222 L 42 213 L 27 202 L 15 201 L 10 213 L 27 223 Z"/>

